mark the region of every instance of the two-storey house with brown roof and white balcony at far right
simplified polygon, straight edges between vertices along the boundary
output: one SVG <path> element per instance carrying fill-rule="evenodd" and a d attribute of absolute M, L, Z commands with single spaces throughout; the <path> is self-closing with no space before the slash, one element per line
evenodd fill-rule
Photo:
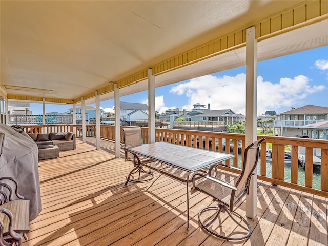
<path fill-rule="evenodd" d="M 328 121 L 328 107 L 305 105 L 277 114 L 274 127 L 279 136 L 323 138 L 323 129 L 312 125 L 323 121 Z"/>

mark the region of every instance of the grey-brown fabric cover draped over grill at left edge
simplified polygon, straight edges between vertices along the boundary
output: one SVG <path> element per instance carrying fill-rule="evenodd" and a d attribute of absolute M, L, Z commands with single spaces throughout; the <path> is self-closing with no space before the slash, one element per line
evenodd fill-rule
<path fill-rule="evenodd" d="M 38 149 L 24 131 L 0 124 L 0 176 L 13 177 L 18 193 L 30 200 L 30 220 L 41 212 Z"/>

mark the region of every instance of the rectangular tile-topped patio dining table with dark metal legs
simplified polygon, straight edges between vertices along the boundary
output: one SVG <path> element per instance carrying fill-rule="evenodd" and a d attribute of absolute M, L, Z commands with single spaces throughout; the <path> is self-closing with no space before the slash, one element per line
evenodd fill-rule
<path fill-rule="evenodd" d="M 214 152 L 209 150 L 197 149 L 187 146 L 170 144 L 168 142 L 154 142 L 152 144 L 144 144 L 139 146 L 122 146 L 127 152 L 134 155 L 135 168 L 131 170 L 127 176 L 127 183 L 130 180 L 131 174 L 138 170 L 140 166 L 148 167 L 149 169 L 158 171 L 165 174 L 173 179 L 186 182 L 187 185 L 187 229 L 189 230 L 189 191 L 188 184 L 191 182 L 189 176 L 191 173 L 197 171 L 204 171 L 204 169 L 213 167 L 219 162 L 228 160 L 234 155 Z M 144 156 L 148 159 L 152 159 L 161 162 L 163 165 L 168 165 L 186 172 L 186 177 L 180 177 L 174 175 L 174 173 L 166 171 L 162 168 L 156 168 L 150 163 L 141 163 L 139 160 L 140 156 Z M 211 170 L 211 169 L 210 169 Z"/>

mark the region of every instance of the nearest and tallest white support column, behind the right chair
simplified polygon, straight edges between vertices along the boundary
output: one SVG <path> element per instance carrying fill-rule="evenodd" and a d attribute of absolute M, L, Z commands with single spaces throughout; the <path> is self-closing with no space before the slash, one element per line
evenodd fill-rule
<path fill-rule="evenodd" d="M 257 115 L 257 40 L 255 27 L 246 30 L 246 145 L 256 141 Z M 256 169 L 255 169 L 256 170 Z M 256 171 L 255 171 L 256 172 Z M 256 207 L 257 177 L 252 175 L 249 194 L 246 197 L 246 216 L 254 219 L 257 216 Z"/>

